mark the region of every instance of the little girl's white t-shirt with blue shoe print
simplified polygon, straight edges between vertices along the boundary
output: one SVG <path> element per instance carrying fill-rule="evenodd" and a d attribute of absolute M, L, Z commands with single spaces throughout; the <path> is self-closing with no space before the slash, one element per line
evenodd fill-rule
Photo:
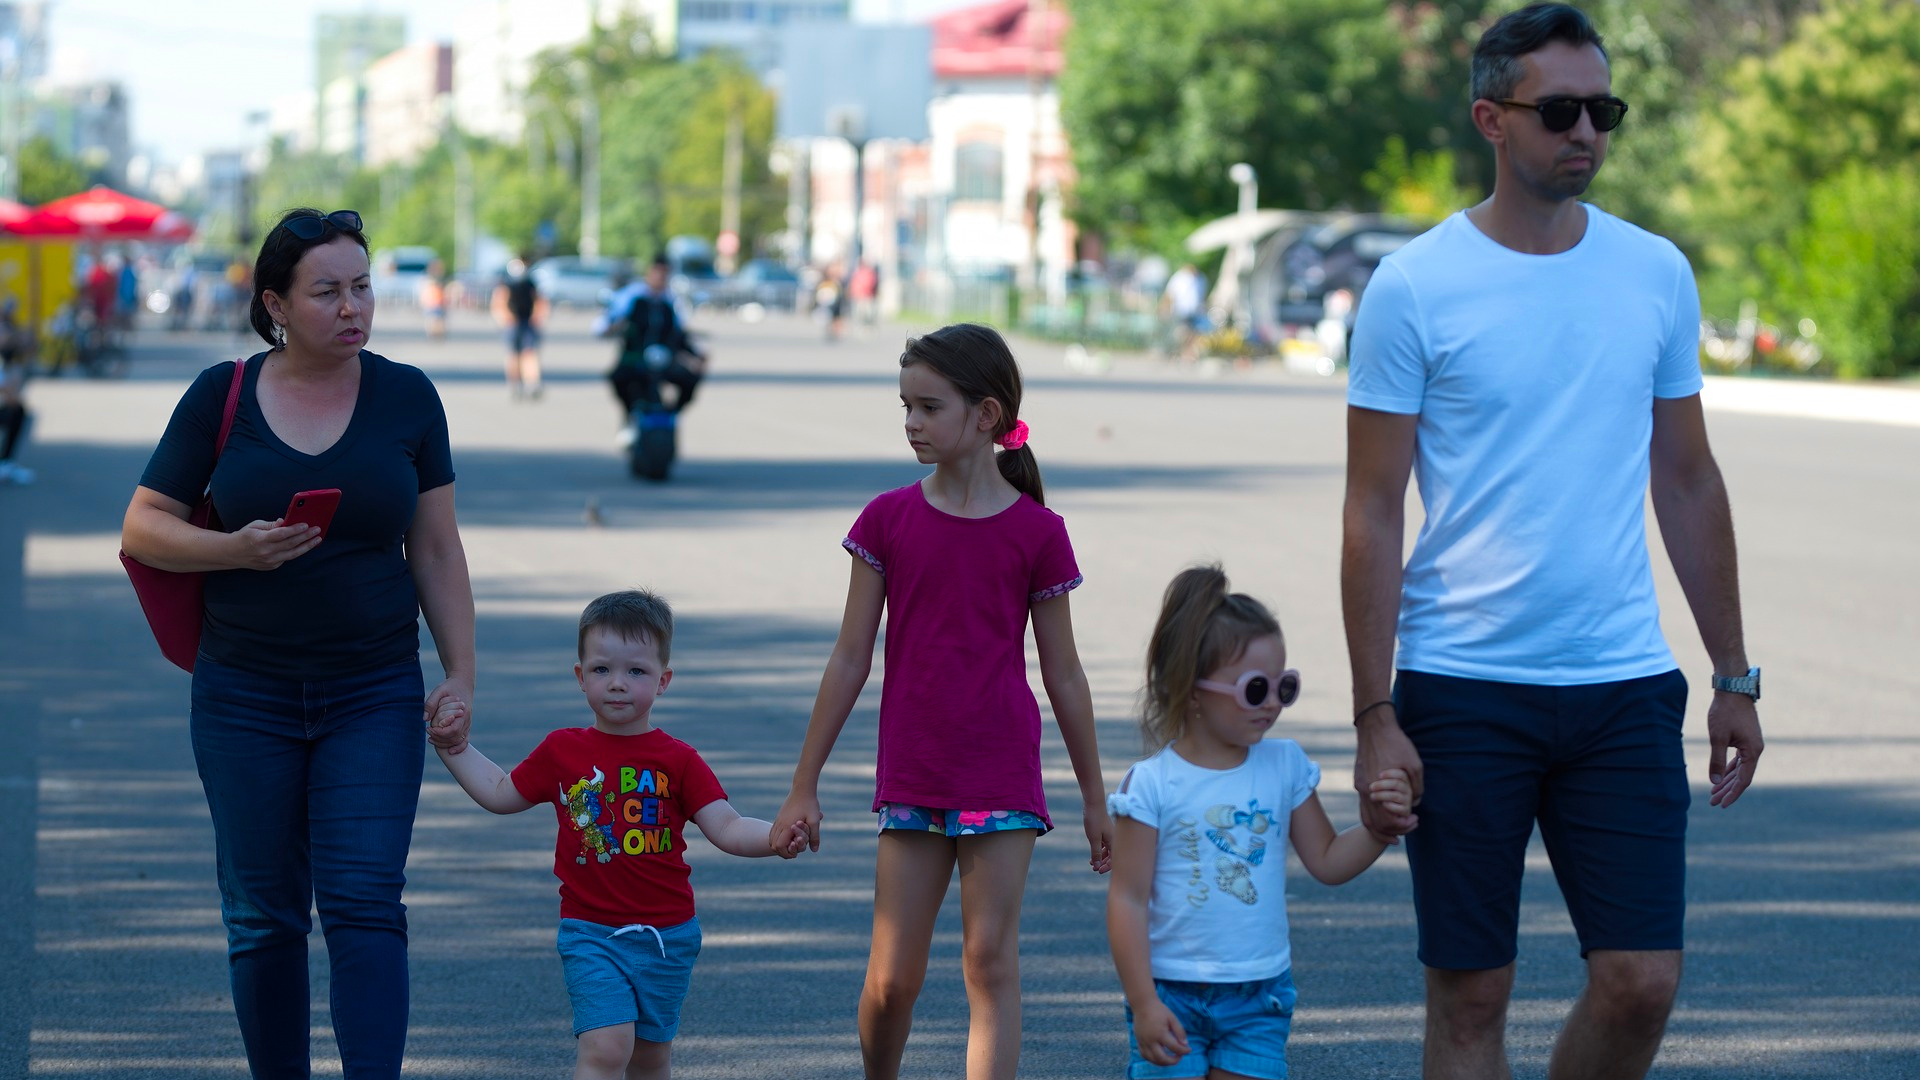
<path fill-rule="evenodd" d="M 1127 771 L 1106 807 L 1160 830 L 1146 907 L 1154 978 L 1254 982 L 1292 967 L 1286 824 L 1317 786 L 1319 765 L 1290 738 L 1254 744 L 1235 769 L 1202 769 L 1167 746 Z"/>

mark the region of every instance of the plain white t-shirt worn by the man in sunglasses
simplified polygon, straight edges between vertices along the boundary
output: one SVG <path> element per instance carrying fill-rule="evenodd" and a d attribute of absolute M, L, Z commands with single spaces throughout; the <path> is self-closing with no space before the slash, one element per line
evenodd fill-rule
<path fill-rule="evenodd" d="M 1427 523 L 1396 667 L 1548 686 L 1670 671 L 1645 532 L 1653 400 L 1699 388 L 1686 256 L 1596 206 L 1555 256 L 1465 213 L 1388 256 L 1346 400 L 1419 415 Z"/>

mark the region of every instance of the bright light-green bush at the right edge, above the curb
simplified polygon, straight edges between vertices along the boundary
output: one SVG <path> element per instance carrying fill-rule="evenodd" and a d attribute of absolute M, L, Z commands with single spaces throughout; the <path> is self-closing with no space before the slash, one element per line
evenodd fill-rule
<path fill-rule="evenodd" d="M 1920 367 L 1920 171 L 1849 163 L 1807 192 L 1807 223 L 1770 259 L 1774 304 L 1818 327 L 1847 379 Z"/>

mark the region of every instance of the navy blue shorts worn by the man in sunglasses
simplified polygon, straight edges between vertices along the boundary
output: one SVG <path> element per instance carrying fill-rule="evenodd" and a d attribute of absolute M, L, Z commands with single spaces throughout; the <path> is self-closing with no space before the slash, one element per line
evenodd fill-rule
<path fill-rule="evenodd" d="M 1513 963 L 1536 821 L 1582 957 L 1680 947 L 1686 676 L 1532 686 L 1402 671 L 1394 707 L 1427 773 L 1407 834 L 1423 965 Z"/>

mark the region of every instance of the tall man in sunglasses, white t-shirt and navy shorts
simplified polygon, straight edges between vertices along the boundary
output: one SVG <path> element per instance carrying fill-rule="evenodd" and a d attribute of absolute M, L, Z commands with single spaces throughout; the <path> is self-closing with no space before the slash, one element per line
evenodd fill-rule
<path fill-rule="evenodd" d="M 1494 196 L 1382 261 L 1354 327 L 1342 596 L 1356 778 L 1407 769 L 1419 828 L 1361 813 L 1382 838 L 1407 834 L 1428 1080 L 1509 1074 L 1536 822 L 1588 963 L 1549 1076 L 1638 1078 L 1680 982 L 1690 805 L 1649 482 L 1715 667 L 1713 805 L 1740 798 L 1763 748 L 1699 405 L 1699 296 L 1670 242 L 1578 198 L 1626 113 L 1586 15 L 1534 4 L 1496 23 L 1473 98 Z M 1409 471 L 1427 521 L 1402 569 Z"/>

